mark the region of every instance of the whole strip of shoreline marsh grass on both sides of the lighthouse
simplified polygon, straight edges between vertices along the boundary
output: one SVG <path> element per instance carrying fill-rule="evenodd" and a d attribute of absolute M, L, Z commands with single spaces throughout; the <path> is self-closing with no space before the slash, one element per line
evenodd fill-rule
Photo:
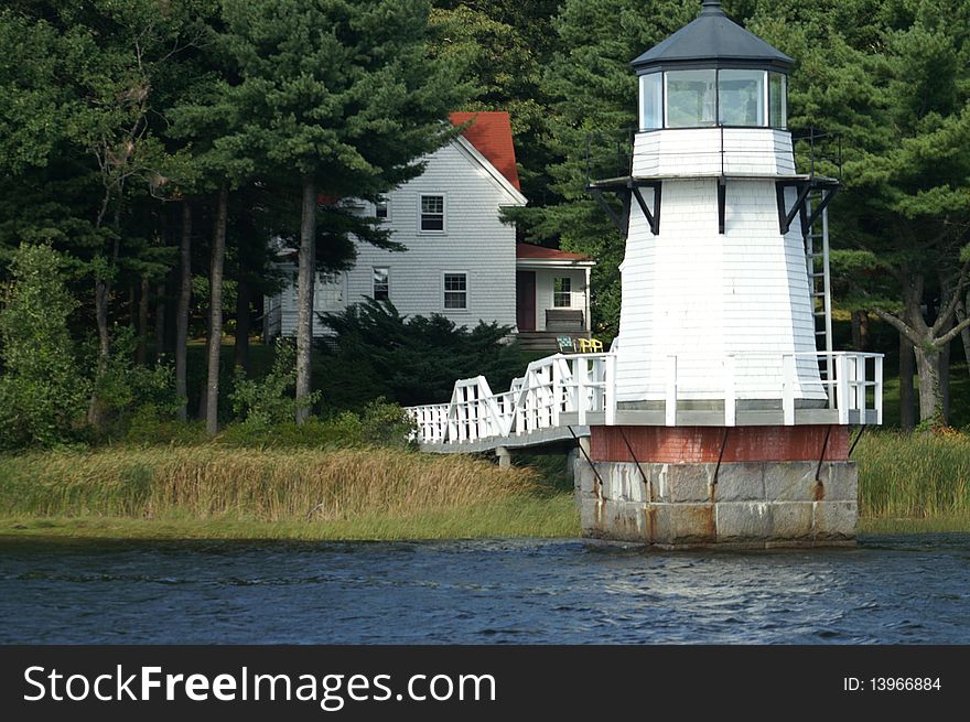
<path fill-rule="evenodd" d="M 970 530 L 970 435 L 867 433 L 862 534 Z M 213 539 L 578 537 L 561 457 L 509 470 L 390 449 L 131 445 L 0 456 L 0 535 Z"/>

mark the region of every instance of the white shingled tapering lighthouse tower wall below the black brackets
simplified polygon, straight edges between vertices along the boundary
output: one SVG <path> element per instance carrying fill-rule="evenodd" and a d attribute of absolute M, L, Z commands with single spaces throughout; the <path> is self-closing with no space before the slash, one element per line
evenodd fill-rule
<path fill-rule="evenodd" d="M 723 398 L 723 356 L 761 353 L 736 369 L 739 397 L 780 398 L 782 354 L 813 352 L 815 328 L 799 229 L 779 233 L 774 182 L 729 182 L 724 235 L 716 179 L 665 181 L 662 197 L 660 235 L 630 216 L 618 400 L 664 398 L 671 355 L 680 398 Z M 822 398 L 817 366 L 797 369 L 796 398 Z"/>

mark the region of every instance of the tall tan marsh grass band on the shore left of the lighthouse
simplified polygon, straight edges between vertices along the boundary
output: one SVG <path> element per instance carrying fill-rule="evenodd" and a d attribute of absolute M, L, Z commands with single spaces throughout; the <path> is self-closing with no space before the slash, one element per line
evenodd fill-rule
<path fill-rule="evenodd" d="M 528 468 L 387 449 L 106 449 L 0 457 L 0 516 L 338 522 L 549 497 Z"/>

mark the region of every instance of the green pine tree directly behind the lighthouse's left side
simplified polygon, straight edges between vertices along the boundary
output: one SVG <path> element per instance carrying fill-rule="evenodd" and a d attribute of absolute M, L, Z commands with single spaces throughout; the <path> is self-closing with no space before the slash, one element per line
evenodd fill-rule
<path fill-rule="evenodd" d="M 524 220 L 536 240 L 559 239 L 564 250 L 596 259 L 593 320 L 601 336 L 616 334 L 623 240 L 586 193 L 588 143 L 594 166 L 614 159 L 636 125 L 637 80 L 629 62 L 697 15 L 700 6 L 678 0 L 567 0 L 554 21 L 560 50 L 543 75 L 551 98 L 549 147 L 561 159 L 549 169 L 551 188 L 562 198 L 528 208 Z M 593 173 L 597 168 L 593 168 Z"/>

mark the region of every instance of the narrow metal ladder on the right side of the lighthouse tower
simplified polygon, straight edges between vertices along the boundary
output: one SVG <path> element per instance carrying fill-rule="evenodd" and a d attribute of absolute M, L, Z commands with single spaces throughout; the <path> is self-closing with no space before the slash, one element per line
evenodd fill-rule
<path fill-rule="evenodd" d="M 806 200 L 806 217 L 811 217 L 811 208 L 821 203 L 822 192 L 812 191 Z M 829 268 L 829 209 L 805 233 L 805 259 L 808 271 L 808 288 L 811 294 L 811 312 L 815 320 L 816 349 L 824 352 L 819 358 L 819 377 L 829 397 L 834 402 L 834 359 L 832 357 L 832 278 Z"/>

